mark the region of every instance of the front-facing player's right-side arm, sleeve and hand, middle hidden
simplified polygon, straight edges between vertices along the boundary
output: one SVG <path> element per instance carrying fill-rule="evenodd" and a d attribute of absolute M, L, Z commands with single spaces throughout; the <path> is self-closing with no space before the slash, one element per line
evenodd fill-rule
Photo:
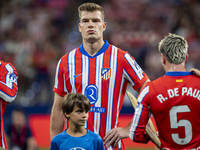
<path fill-rule="evenodd" d="M 150 81 L 149 78 L 129 53 L 124 54 L 123 66 L 126 72 L 125 78 L 139 93 L 143 85 Z M 113 128 L 108 131 L 104 137 L 104 144 L 106 144 L 107 147 L 109 147 L 111 144 L 114 144 L 113 146 L 115 147 L 121 139 L 129 137 L 131 123 L 132 121 L 130 121 L 126 127 Z"/>

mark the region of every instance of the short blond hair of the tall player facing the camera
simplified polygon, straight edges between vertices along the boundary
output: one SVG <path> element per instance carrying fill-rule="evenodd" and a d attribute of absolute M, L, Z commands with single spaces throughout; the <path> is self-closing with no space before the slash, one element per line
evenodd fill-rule
<path fill-rule="evenodd" d="M 89 12 L 93 12 L 93 11 L 100 11 L 102 14 L 102 20 L 104 21 L 104 10 L 103 7 L 101 7 L 98 4 L 95 3 L 83 3 L 82 5 L 80 5 L 78 7 L 78 13 L 79 13 L 79 19 L 81 19 L 81 12 L 82 11 L 89 11 Z"/>

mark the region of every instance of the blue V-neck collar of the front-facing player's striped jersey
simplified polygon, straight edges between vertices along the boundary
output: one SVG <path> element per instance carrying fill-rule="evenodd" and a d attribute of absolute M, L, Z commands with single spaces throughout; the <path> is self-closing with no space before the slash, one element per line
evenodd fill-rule
<path fill-rule="evenodd" d="M 105 42 L 105 43 L 104 43 L 103 47 L 102 47 L 94 56 L 90 56 L 90 55 L 85 51 L 85 49 L 84 49 L 84 47 L 83 47 L 83 43 L 82 43 L 81 46 L 79 47 L 79 50 L 80 50 L 80 52 L 81 52 L 83 55 L 86 55 L 86 56 L 88 56 L 88 57 L 90 57 L 90 58 L 94 58 L 94 57 L 98 56 L 99 54 L 105 52 L 105 51 L 107 50 L 107 48 L 109 47 L 108 41 L 104 40 L 104 42 Z"/>

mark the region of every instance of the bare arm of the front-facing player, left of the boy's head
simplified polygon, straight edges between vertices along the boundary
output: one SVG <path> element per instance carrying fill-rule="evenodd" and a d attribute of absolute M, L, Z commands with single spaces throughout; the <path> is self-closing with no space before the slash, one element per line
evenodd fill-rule
<path fill-rule="evenodd" d="M 62 112 L 61 104 L 63 97 L 55 93 L 54 103 L 51 110 L 51 119 L 50 119 L 50 138 L 53 137 L 63 131 L 63 127 L 65 124 L 65 117 Z"/>

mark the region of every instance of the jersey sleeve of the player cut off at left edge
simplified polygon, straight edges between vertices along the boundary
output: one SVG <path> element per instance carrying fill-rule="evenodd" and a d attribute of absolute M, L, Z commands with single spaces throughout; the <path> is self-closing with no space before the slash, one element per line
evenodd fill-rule
<path fill-rule="evenodd" d="M 16 69 L 11 63 L 0 61 L 0 98 L 7 103 L 14 101 L 17 96 Z"/>

